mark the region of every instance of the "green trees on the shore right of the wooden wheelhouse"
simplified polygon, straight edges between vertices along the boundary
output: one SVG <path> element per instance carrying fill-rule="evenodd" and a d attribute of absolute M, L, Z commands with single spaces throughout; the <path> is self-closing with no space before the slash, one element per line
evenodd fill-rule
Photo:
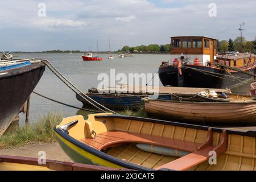
<path fill-rule="evenodd" d="M 256 37 L 252 41 L 247 41 L 244 37 L 237 37 L 232 40 L 221 40 L 218 42 L 218 52 L 231 52 L 231 51 L 242 51 L 242 52 L 255 52 L 256 50 Z"/>

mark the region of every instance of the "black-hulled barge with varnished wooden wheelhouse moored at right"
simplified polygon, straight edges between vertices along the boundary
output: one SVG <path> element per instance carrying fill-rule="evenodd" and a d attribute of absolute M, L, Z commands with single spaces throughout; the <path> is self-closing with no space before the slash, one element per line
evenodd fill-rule
<path fill-rule="evenodd" d="M 254 76 L 215 65 L 225 63 L 232 68 L 256 73 L 256 56 L 244 53 L 217 55 L 217 40 L 205 36 L 171 37 L 171 60 L 159 67 L 164 86 L 198 88 L 230 88 Z"/>

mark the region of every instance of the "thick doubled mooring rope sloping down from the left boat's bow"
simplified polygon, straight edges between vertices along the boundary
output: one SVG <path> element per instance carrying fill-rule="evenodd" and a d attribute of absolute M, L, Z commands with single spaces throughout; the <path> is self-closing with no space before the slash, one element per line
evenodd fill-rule
<path fill-rule="evenodd" d="M 68 86 L 68 88 L 70 88 L 71 90 L 73 90 L 73 92 L 79 94 L 79 96 L 81 96 L 82 98 L 84 98 L 84 100 L 86 100 L 89 104 L 91 104 L 92 106 L 96 107 L 98 110 L 101 110 L 103 112 L 109 111 L 111 113 L 114 114 L 118 114 L 113 110 L 108 109 L 107 107 L 99 104 L 98 102 L 94 101 L 92 98 L 90 98 L 89 96 L 86 96 L 86 94 L 84 94 L 81 90 L 79 90 L 75 85 L 73 85 L 67 78 L 65 78 L 51 63 L 49 63 L 48 60 L 42 60 L 42 62 L 44 64 L 47 65 L 47 67 L 58 77 L 60 78 L 60 80 Z M 94 104 L 92 102 L 94 102 Z M 97 106 L 98 105 L 98 106 Z M 104 109 L 101 109 L 104 108 Z"/>

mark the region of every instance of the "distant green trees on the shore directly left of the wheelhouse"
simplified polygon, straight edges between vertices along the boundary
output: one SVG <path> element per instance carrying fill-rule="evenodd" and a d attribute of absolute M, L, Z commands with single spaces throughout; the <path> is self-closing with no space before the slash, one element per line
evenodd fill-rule
<path fill-rule="evenodd" d="M 150 44 L 148 46 L 141 45 L 136 47 L 123 46 L 123 48 L 119 49 L 118 52 L 167 53 L 170 52 L 170 44 Z"/>

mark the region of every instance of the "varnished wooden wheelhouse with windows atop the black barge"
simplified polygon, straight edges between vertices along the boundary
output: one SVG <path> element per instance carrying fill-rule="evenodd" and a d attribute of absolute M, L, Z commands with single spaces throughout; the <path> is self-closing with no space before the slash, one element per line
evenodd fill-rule
<path fill-rule="evenodd" d="M 213 65 L 217 55 L 217 39 L 206 36 L 173 36 L 170 46 L 171 61 L 181 59 L 189 64 L 197 59 L 200 65 Z"/>

